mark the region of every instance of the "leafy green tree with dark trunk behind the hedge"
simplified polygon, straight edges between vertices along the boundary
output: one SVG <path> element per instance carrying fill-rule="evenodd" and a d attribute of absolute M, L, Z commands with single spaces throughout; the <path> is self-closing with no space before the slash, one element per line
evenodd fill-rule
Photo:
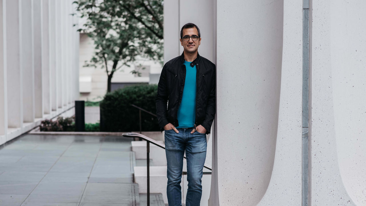
<path fill-rule="evenodd" d="M 86 23 L 79 31 L 94 40 L 95 54 L 84 66 L 106 70 L 107 92 L 113 74 L 131 66 L 140 55 L 162 62 L 162 0 L 78 0 L 77 11 Z"/>

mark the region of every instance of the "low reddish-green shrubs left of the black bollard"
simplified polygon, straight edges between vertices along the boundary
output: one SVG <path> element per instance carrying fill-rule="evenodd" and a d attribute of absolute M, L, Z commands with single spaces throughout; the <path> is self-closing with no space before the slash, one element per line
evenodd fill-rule
<path fill-rule="evenodd" d="M 41 121 L 41 132 L 74 132 L 75 131 L 75 116 L 58 117 L 56 121 L 45 119 Z"/>

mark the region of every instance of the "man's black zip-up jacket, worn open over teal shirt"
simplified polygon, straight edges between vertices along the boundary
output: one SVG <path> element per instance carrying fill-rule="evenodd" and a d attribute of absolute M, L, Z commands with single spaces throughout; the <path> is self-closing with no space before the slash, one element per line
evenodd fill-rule
<path fill-rule="evenodd" d="M 197 68 L 194 127 L 202 125 L 207 131 L 206 134 L 209 134 L 216 112 L 216 67 L 214 63 L 199 54 L 190 65 L 192 67 L 196 65 Z M 175 127 L 179 126 L 178 108 L 182 102 L 185 80 L 184 54 L 165 63 L 156 96 L 156 114 L 161 131 L 169 123 Z"/>

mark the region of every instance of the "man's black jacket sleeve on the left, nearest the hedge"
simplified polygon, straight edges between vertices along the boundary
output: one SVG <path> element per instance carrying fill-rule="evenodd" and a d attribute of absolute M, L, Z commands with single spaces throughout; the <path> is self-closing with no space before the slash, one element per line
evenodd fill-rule
<path fill-rule="evenodd" d="M 168 103 L 168 88 L 167 88 L 167 64 L 164 65 L 160 74 L 158 83 L 158 91 L 155 98 L 156 115 L 159 122 L 160 131 L 164 130 L 164 126 L 169 124 L 167 119 L 167 103 Z"/>

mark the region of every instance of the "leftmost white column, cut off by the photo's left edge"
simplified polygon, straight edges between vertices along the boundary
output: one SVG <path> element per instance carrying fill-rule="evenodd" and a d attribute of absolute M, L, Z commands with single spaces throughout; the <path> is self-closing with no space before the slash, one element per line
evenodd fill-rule
<path fill-rule="evenodd" d="M 0 0 L 0 145 L 5 143 L 8 129 L 5 3 L 5 0 Z"/>

